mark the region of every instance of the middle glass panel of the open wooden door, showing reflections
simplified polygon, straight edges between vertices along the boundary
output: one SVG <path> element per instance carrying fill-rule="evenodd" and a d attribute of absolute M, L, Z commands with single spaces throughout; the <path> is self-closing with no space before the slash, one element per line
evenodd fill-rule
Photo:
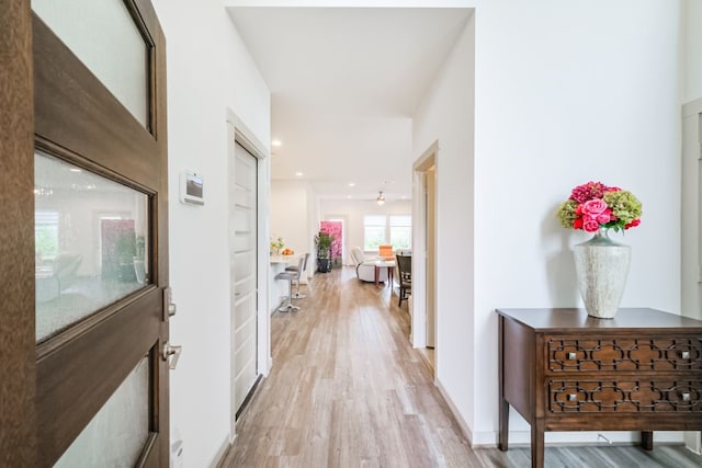
<path fill-rule="evenodd" d="M 37 152 L 36 340 L 148 283 L 148 196 Z"/>

